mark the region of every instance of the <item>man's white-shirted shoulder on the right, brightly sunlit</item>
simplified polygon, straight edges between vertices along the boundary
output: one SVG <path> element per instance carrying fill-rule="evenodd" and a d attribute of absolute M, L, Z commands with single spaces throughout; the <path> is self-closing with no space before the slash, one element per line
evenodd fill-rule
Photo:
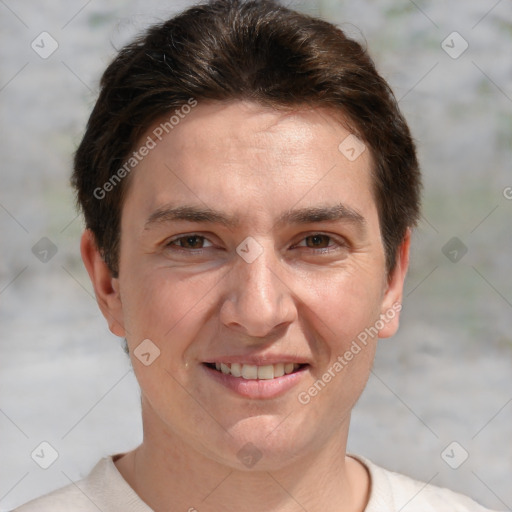
<path fill-rule="evenodd" d="M 388 471 L 363 457 L 355 458 L 367 467 L 371 477 L 365 512 L 492 512 L 450 489 Z"/>

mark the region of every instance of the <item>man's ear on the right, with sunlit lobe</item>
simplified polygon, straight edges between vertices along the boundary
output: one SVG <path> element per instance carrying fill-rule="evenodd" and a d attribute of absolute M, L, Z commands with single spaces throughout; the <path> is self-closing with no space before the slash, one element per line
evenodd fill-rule
<path fill-rule="evenodd" d="M 388 276 L 387 289 L 382 300 L 380 319 L 384 324 L 379 329 L 379 338 L 389 338 L 398 330 L 404 281 L 409 268 L 409 250 L 411 245 L 411 230 L 408 228 L 403 242 L 397 251 L 395 268 Z"/>

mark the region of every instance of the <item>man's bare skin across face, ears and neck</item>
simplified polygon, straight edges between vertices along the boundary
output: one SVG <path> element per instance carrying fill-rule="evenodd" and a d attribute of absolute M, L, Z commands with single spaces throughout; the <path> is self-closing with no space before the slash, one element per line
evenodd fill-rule
<path fill-rule="evenodd" d="M 84 233 L 99 306 L 127 338 L 142 394 L 143 442 L 116 465 L 157 512 L 364 510 L 369 476 L 346 456 L 346 441 L 378 338 L 307 405 L 298 400 L 402 299 L 410 234 L 388 275 L 371 154 L 351 162 L 340 153 L 349 134 L 321 110 L 199 104 L 130 177 L 118 278 Z M 340 203 L 363 220 L 280 222 L 291 210 Z M 162 213 L 185 205 L 238 222 Z M 247 237 L 262 250 L 252 263 L 236 252 Z M 398 318 L 378 337 L 392 336 Z M 149 366 L 133 355 L 145 339 L 160 350 Z M 203 366 L 276 354 L 308 366 L 270 399 L 240 396 Z M 252 467 L 237 457 L 247 443 L 261 456 Z"/>

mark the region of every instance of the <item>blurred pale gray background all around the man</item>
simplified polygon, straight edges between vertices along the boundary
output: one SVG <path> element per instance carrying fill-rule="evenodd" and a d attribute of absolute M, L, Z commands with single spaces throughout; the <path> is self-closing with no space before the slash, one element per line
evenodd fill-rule
<path fill-rule="evenodd" d="M 141 439 L 68 178 L 115 49 L 191 3 L 0 0 L 2 511 Z M 349 451 L 512 510 L 512 4 L 286 3 L 366 40 L 424 172 L 401 329 L 380 342 Z"/>

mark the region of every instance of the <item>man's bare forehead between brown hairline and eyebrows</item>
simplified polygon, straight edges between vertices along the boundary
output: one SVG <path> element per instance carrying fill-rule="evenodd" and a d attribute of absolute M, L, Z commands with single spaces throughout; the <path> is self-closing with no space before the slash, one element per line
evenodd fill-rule
<path fill-rule="evenodd" d="M 319 202 L 375 211 L 370 152 L 347 158 L 343 144 L 353 135 L 327 111 L 239 101 L 198 104 L 172 125 L 169 118 L 142 137 L 155 146 L 137 165 L 127 195 L 139 211 L 151 214 L 176 200 L 241 216 L 255 209 L 279 216 L 294 204 Z"/>

